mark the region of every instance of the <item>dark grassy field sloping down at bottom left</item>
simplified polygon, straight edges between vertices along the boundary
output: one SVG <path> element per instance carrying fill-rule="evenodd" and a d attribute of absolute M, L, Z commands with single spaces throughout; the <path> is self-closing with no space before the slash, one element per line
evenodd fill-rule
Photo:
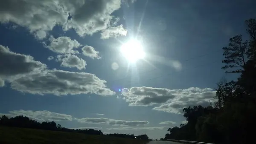
<path fill-rule="evenodd" d="M 146 144 L 147 141 L 72 132 L 0 127 L 0 144 Z"/>

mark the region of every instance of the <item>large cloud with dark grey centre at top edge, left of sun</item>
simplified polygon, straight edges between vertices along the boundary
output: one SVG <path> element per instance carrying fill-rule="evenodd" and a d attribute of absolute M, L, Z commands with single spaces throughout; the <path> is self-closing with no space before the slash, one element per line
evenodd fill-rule
<path fill-rule="evenodd" d="M 80 0 L 72 5 L 75 9 L 71 10 L 72 18 L 64 29 L 73 28 L 84 36 L 107 29 L 113 18 L 111 14 L 121 7 L 121 0 Z"/>

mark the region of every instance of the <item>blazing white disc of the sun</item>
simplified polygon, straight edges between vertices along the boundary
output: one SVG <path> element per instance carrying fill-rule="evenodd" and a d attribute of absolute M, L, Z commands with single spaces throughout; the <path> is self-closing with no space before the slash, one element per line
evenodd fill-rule
<path fill-rule="evenodd" d="M 129 62 L 136 62 L 145 57 L 143 46 L 138 40 L 129 40 L 121 46 L 122 55 L 129 60 Z"/>

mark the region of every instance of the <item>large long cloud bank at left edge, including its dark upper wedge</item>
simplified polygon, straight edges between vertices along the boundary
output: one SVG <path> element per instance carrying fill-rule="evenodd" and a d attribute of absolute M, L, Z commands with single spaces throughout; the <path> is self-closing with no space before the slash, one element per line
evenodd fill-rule
<path fill-rule="evenodd" d="M 95 93 L 113 95 L 106 81 L 86 72 L 49 70 L 32 56 L 11 52 L 0 45 L 0 78 L 11 83 L 12 89 L 32 94 L 77 95 Z"/>

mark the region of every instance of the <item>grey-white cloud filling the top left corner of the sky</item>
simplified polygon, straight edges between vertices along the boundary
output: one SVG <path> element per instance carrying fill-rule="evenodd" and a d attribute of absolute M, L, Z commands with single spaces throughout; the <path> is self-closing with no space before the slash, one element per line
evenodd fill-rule
<path fill-rule="evenodd" d="M 25 26 L 38 37 L 42 37 L 42 31 L 64 24 L 68 17 L 60 1 L 53 0 L 1 0 L 0 9 L 0 22 Z"/>

